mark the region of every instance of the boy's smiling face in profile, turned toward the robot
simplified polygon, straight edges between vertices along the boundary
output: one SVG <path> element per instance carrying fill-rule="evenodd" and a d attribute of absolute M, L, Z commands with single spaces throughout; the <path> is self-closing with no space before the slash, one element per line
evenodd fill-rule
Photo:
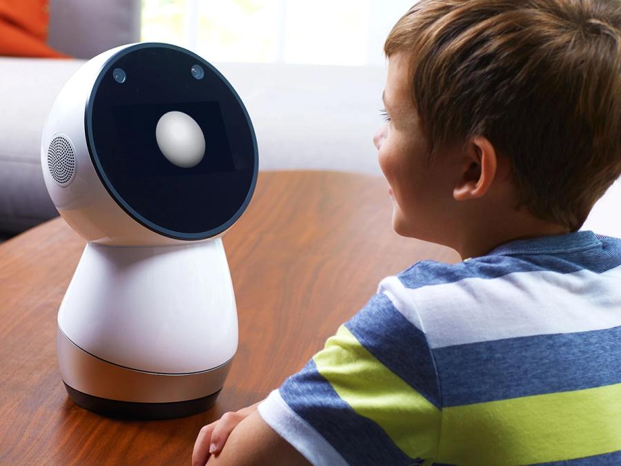
<path fill-rule="evenodd" d="M 402 53 L 388 60 L 384 105 L 391 120 L 377 131 L 373 143 L 390 184 L 393 229 L 402 236 L 447 244 L 455 167 L 451 169 L 451 157 L 442 153 L 437 162 L 427 163 L 426 143 L 408 82 L 407 57 Z"/>

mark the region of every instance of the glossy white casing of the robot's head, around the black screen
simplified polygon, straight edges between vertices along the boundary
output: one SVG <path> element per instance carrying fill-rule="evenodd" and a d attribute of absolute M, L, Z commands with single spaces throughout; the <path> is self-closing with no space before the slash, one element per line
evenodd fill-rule
<path fill-rule="evenodd" d="M 124 211 L 119 202 L 112 197 L 110 190 L 104 186 L 89 151 L 86 109 L 102 69 L 109 66 L 108 61 L 122 55 L 119 53 L 122 50 L 146 45 L 148 44 L 127 44 L 103 52 L 86 62 L 61 89 L 43 128 L 41 167 L 52 202 L 72 229 L 89 242 L 123 246 L 164 246 L 184 244 L 190 239 L 161 234 L 128 215 L 128 212 Z M 224 80 L 224 77 L 221 79 Z M 234 93 L 234 90 L 232 92 Z M 155 138 L 155 126 L 153 134 Z M 48 168 L 50 144 L 58 136 L 61 136 L 61 141 L 70 141 L 75 151 L 75 162 L 72 161 L 75 173 L 71 174 L 68 184 L 60 184 Z M 253 190 L 254 182 L 248 200 Z M 242 210 L 244 208 L 245 205 Z M 230 225 L 226 226 L 228 227 Z M 209 237 L 191 239 L 213 240 L 223 234 L 224 231 L 219 231 Z"/>

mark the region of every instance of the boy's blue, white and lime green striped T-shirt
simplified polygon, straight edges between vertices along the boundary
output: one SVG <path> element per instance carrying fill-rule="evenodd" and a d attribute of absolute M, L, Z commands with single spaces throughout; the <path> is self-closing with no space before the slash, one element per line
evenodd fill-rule
<path fill-rule="evenodd" d="M 313 465 L 621 465 L 621 240 L 417 262 L 258 409 Z"/>

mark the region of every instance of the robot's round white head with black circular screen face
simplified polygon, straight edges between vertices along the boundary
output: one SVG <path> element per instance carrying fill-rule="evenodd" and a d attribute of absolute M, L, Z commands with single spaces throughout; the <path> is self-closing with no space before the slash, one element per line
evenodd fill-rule
<path fill-rule="evenodd" d="M 221 235 L 257 180 L 253 125 L 211 64 L 166 43 L 88 61 L 52 105 L 43 176 L 59 213 L 102 244 L 175 244 Z"/>

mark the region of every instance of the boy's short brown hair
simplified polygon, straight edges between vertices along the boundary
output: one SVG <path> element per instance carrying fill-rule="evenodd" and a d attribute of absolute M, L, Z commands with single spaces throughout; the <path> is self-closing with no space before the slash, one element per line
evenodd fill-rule
<path fill-rule="evenodd" d="M 432 160 L 483 135 L 520 202 L 577 231 L 621 174 L 620 0 L 420 0 L 384 52 L 405 52 Z"/>

